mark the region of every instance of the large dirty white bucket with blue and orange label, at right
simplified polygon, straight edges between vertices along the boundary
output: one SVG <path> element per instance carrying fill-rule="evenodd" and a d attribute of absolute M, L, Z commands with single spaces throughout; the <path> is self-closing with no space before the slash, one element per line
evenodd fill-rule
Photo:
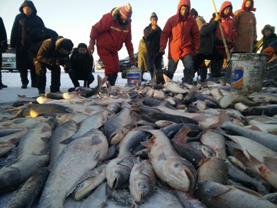
<path fill-rule="evenodd" d="M 233 54 L 231 92 L 247 95 L 262 91 L 267 58 L 267 53 Z"/>

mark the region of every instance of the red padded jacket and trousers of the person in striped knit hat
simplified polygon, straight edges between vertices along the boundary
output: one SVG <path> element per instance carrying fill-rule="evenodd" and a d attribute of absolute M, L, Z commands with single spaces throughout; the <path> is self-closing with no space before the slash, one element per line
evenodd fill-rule
<path fill-rule="evenodd" d="M 128 53 L 134 54 L 132 44 L 131 19 L 125 26 L 118 23 L 120 7 L 103 15 L 100 21 L 91 28 L 91 40 L 96 40 L 97 52 L 105 65 L 105 74 L 119 72 L 118 51 L 123 43 Z"/>

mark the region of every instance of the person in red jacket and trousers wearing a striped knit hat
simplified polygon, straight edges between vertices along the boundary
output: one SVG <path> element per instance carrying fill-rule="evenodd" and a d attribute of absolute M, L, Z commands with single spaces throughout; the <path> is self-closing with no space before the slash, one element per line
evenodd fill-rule
<path fill-rule="evenodd" d="M 97 46 L 97 53 L 105 65 L 105 75 L 110 85 L 116 84 L 119 72 L 118 51 L 123 47 L 127 48 L 129 59 L 132 64 L 136 63 L 131 33 L 132 6 L 114 8 L 111 12 L 103 15 L 100 21 L 92 26 L 89 41 L 89 54 L 93 53 L 94 46 Z"/>

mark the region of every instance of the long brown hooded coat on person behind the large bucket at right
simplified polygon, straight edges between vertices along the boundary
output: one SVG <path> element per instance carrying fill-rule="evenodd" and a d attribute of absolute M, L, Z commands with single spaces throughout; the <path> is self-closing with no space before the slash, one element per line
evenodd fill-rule
<path fill-rule="evenodd" d="M 253 13 L 256 11 L 256 8 L 254 8 L 254 1 L 251 0 L 251 8 L 247 10 L 247 8 L 244 7 L 247 1 L 249 0 L 244 0 L 242 8 L 234 13 L 235 17 L 233 23 L 237 37 L 235 37 L 233 52 L 251 53 L 253 48 L 253 36 L 257 36 L 256 17 Z"/>

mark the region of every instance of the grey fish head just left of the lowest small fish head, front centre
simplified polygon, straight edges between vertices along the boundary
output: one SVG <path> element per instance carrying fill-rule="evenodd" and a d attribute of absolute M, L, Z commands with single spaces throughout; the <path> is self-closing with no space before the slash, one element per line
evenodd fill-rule
<path fill-rule="evenodd" d="M 110 164 L 111 163 L 111 164 Z M 125 159 L 113 159 L 107 166 L 107 184 L 111 189 L 124 189 L 128 187 L 132 162 Z"/>

